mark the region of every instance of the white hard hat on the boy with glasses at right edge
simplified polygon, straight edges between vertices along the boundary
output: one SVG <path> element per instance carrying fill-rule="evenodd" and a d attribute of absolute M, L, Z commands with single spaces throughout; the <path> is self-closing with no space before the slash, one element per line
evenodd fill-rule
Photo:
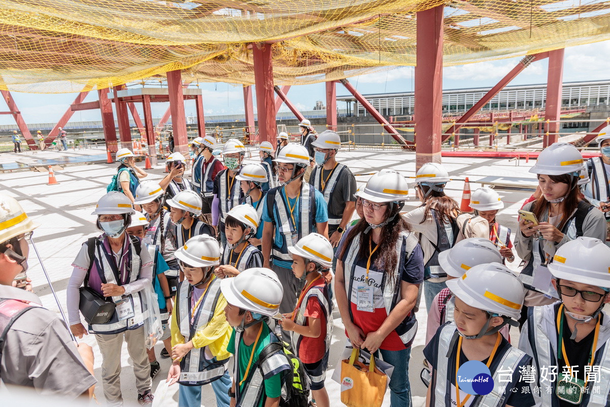
<path fill-rule="evenodd" d="M 610 247 L 593 237 L 577 237 L 557 249 L 548 271 L 575 283 L 610 287 Z"/>

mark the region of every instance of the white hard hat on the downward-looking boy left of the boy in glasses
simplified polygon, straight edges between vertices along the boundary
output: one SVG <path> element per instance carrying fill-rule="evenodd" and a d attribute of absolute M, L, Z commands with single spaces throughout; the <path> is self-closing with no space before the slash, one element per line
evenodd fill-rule
<path fill-rule="evenodd" d="M 500 263 L 479 264 L 461 278 L 447 281 L 453 295 L 466 304 L 512 319 L 519 319 L 525 289 L 519 278 Z"/>

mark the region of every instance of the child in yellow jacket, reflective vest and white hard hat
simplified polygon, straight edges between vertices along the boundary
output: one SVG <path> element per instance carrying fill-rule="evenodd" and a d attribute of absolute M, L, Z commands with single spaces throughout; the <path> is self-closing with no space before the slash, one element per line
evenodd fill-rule
<path fill-rule="evenodd" d="M 216 405 L 229 407 L 231 326 L 224 314 L 227 302 L 221 280 L 212 272 L 220 261 L 218 241 L 207 235 L 189 239 L 176 257 L 185 280 L 178 287 L 171 317 L 172 364 L 167 380 L 178 381 L 180 407 L 201 406 L 204 384 L 212 384 Z"/>

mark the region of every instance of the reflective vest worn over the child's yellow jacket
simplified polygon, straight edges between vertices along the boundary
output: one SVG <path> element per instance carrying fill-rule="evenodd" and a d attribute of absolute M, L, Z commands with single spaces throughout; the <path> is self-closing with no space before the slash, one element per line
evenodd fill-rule
<path fill-rule="evenodd" d="M 203 330 L 212 320 L 220 297 L 220 281 L 220 278 L 212 276 L 212 282 L 203 294 L 203 298 L 195 311 L 194 319 L 191 306 L 193 286 L 188 284 L 188 281 L 182 281 L 178 286 L 176 317 L 178 318 L 180 333 L 184 336 L 185 342 L 193 339 L 195 333 Z M 210 383 L 223 376 L 228 366 L 229 358 L 223 361 L 210 361 L 206 358 L 206 347 L 193 348 L 180 362 L 181 372 L 178 383 L 184 386 L 203 386 L 203 384 Z"/>

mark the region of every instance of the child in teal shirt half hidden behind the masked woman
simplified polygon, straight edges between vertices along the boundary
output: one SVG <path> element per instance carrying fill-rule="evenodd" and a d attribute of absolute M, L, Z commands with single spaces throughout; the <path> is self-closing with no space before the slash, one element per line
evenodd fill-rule
<path fill-rule="evenodd" d="M 131 223 L 127 228 L 127 234 L 130 236 L 137 236 L 142 239 L 142 243 L 146 244 L 146 248 L 151 254 L 152 258 L 152 287 L 154 288 L 155 294 L 157 294 L 157 302 L 159 303 L 159 312 L 161 314 L 161 323 L 163 326 L 163 336 L 160 339 L 165 346 L 165 350 L 168 354 L 171 352 L 171 333 L 170 327 L 168 326 L 168 320 L 173 309 L 171 304 L 171 292 L 170 286 L 167 283 L 165 272 L 170 270 L 170 267 L 163 259 L 163 256 L 155 245 L 149 245 L 145 242 L 146 229 L 148 229 L 149 222 L 146 215 L 142 212 L 136 212 L 131 217 Z M 146 350 L 148 353 L 148 362 L 151 364 L 151 378 L 159 373 L 161 366 L 157 362 L 157 357 L 154 354 L 154 348 Z"/>

